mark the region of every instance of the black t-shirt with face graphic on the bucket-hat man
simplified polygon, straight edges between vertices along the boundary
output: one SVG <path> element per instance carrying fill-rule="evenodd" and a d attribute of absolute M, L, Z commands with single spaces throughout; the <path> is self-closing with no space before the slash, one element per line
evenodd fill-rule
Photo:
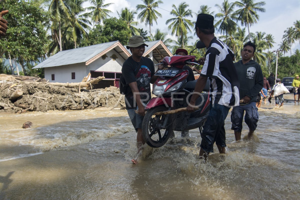
<path fill-rule="evenodd" d="M 154 69 L 153 61 L 150 58 L 142 57 L 142 59 L 143 61 L 141 60 L 141 62 L 143 63 L 136 76 L 134 76 L 134 74 L 137 70 L 137 67 L 139 67 L 140 63 L 134 61 L 134 59 L 131 56 L 127 60 L 125 60 L 122 66 L 122 75 L 124 76 L 127 84 L 132 82 L 137 82 L 137 88 L 140 91 L 141 99 L 150 100 L 151 99 L 150 80 L 155 73 L 155 69 Z M 125 103 L 126 103 L 126 109 L 133 109 L 137 106 L 137 103 L 134 102 L 131 89 L 129 89 L 128 93 L 125 94 Z"/>

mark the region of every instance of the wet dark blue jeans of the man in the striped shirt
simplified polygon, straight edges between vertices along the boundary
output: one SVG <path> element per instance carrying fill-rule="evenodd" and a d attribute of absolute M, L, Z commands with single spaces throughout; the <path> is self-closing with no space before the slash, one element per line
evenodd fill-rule
<path fill-rule="evenodd" d="M 215 103 L 209 111 L 208 118 L 203 127 L 201 148 L 206 152 L 214 152 L 214 142 L 221 147 L 226 147 L 226 133 L 224 121 L 230 107 Z"/>

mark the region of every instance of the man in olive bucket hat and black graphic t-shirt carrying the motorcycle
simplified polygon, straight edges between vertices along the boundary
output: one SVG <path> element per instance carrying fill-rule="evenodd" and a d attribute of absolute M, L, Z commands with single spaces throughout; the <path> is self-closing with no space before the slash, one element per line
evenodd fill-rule
<path fill-rule="evenodd" d="M 154 63 L 150 58 L 143 56 L 145 52 L 144 38 L 140 35 L 134 35 L 129 38 L 129 45 L 131 56 L 125 60 L 122 66 L 122 75 L 125 78 L 126 84 L 130 88 L 125 94 L 126 109 L 137 132 L 137 148 L 138 153 L 145 141 L 142 136 L 142 122 L 145 115 L 144 105 L 151 99 L 150 83 L 154 83 L 158 76 L 154 76 Z M 163 69 L 163 65 L 159 65 L 158 69 Z M 138 111 L 138 114 L 135 111 Z M 131 160 L 137 164 L 137 157 Z"/>

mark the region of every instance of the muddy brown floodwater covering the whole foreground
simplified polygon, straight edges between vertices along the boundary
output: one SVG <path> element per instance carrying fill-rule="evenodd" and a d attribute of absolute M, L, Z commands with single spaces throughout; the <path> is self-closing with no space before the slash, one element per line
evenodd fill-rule
<path fill-rule="evenodd" d="M 299 199 L 300 105 L 287 97 L 279 109 L 262 104 L 251 140 L 233 142 L 229 112 L 226 156 L 207 163 L 196 158 L 194 129 L 146 146 L 131 164 L 136 133 L 125 110 L 0 113 L 0 199 Z M 22 129 L 26 121 L 33 125 Z"/>

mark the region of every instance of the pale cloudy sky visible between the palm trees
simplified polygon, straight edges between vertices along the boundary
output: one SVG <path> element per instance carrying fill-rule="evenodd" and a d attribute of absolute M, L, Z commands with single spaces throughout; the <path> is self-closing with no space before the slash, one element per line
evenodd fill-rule
<path fill-rule="evenodd" d="M 201 5 L 208 5 L 211 7 L 211 11 L 214 11 L 214 14 L 218 13 L 217 7 L 215 4 L 222 4 L 223 0 L 214 0 L 214 1 L 192 1 L 192 0 L 172 0 L 172 1 L 164 1 L 163 4 L 159 4 L 159 8 L 156 10 L 161 13 L 162 18 L 158 18 L 158 24 L 155 23 L 151 27 L 151 32 L 153 33 L 157 28 L 159 28 L 163 32 L 169 33 L 168 37 L 175 39 L 174 36 L 171 35 L 166 25 L 167 19 L 173 18 L 170 15 L 170 11 L 172 10 L 172 4 L 176 7 L 181 2 L 186 2 L 189 4 L 189 9 L 191 9 L 194 13 L 197 13 Z M 234 0 L 229 0 L 229 2 L 234 2 Z M 259 2 L 256 0 L 255 2 Z M 128 7 L 130 10 L 136 10 L 137 4 L 143 4 L 142 0 L 105 0 L 105 4 L 114 3 L 107 9 L 111 10 L 113 13 L 110 16 L 118 17 L 117 11 L 120 12 L 122 8 Z M 299 0 L 265 0 L 265 13 L 259 13 L 259 21 L 258 23 L 252 25 L 250 27 L 250 32 L 255 33 L 256 31 L 262 31 L 266 34 L 272 34 L 274 36 L 274 40 L 276 44 L 274 44 L 274 48 L 272 50 L 276 50 L 279 47 L 280 42 L 282 41 L 282 36 L 284 34 L 284 30 L 288 27 L 293 26 L 293 23 L 296 20 L 300 20 L 300 1 Z M 88 2 L 84 4 L 85 7 L 90 6 Z M 193 14 L 191 20 L 196 20 L 196 14 Z M 135 21 L 140 22 L 135 18 Z M 239 24 L 240 25 L 240 24 Z M 240 25 L 241 26 L 241 25 Z M 149 34 L 149 25 L 145 25 L 144 23 L 140 23 L 137 28 L 143 28 L 148 31 Z M 193 30 L 192 30 L 193 31 Z M 247 33 L 247 31 L 246 31 Z M 193 36 L 194 33 L 190 34 Z M 219 36 L 219 33 L 216 33 L 216 36 Z M 192 44 L 196 41 L 196 36 L 193 36 L 193 40 L 189 44 Z M 292 46 L 292 51 L 295 49 L 300 49 L 300 45 L 298 41 Z"/>

